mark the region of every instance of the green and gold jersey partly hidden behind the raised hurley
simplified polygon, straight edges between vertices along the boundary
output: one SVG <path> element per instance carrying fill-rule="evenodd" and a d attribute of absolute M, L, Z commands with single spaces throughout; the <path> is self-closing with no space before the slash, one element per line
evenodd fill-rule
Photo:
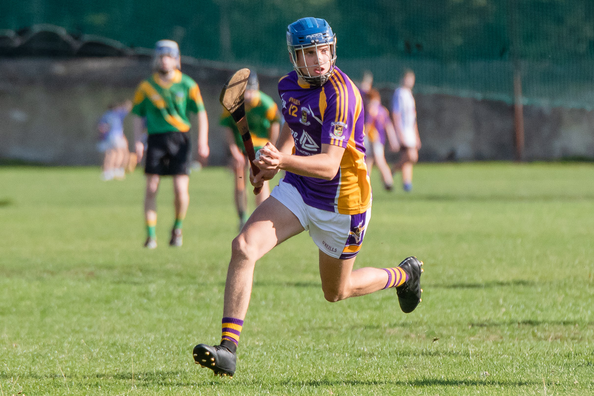
<path fill-rule="evenodd" d="M 251 100 L 251 103 L 245 103 L 245 116 L 248 120 L 249 132 L 252 135 L 254 149 L 258 150 L 268 142 L 268 129 L 274 122 L 279 122 L 279 112 L 274 100 L 262 91 L 258 91 Z M 220 119 L 220 125 L 228 126 L 233 131 L 235 144 L 239 150 L 245 153 L 244 142 L 239 134 L 239 129 L 235 121 L 227 110 L 223 111 Z"/>

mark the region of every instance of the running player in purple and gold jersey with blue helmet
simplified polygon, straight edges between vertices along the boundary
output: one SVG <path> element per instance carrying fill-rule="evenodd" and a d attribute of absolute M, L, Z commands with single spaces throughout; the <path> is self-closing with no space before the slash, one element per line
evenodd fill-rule
<path fill-rule="evenodd" d="M 287 45 L 294 70 L 279 81 L 286 123 L 276 146 L 269 142 L 260 150 L 254 163 L 261 172 L 251 180 L 261 186 L 280 170 L 286 176 L 233 240 L 220 345 L 194 347 L 195 362 L 219 375 L 235 373 L 255 262 L 304 230 L 319 249 L 329 302 L 390 287 L 396 288 L 404 312 L 421 301 L 422 262 L 414 257 L 397 267 L 353 271 L 371 214 L 371 185 L 361 94 L 335 66 L 334 33 L 323 19 L 302 18 L 289 25 Z"/>

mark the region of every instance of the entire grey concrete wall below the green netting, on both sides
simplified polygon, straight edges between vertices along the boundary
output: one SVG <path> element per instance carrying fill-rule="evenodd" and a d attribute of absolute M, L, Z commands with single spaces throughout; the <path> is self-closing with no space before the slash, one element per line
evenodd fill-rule
<path fill-rule="evenodd" d="M 220 88 L 237 67 L 187 65 L 200 85 L 210 121 L 210 163 L 225 163 Z M 287 65 L 287 71 L 290 67 Z M 146 59 L 4 59 L 0 62 L 0 159 L 46 164 L 100 164 L 96 122 L 114 100 L 132 98 L 150 74 Z M 277 98 L 278 75 L 260 74 Z M 381 90 L 384 103 L 391 91 Z M 503 102 L 415 94 L 423 146 L 420 159 L 512 160 L 513 107 Z M 389 106 L 388 106 L 389 107 Z M 525 106 L 525 159 L 594 158 L 594 112 Z M 131 121 L 125 123 L 131 140 Z M 195 129 L 192 128 L 195 137 Z M 194 138 L 195 143 L 195 138 Z"/>

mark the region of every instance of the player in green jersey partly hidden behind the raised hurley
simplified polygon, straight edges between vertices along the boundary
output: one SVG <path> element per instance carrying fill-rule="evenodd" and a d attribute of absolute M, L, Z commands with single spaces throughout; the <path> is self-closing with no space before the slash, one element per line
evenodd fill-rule
<path fill-rule="evenodd" d="M 258 76 L 254 71 L 249 74 L 248 85 L 245 88 L 245 115 L 248 119 L 249 132 L 254 142 L 254 150 L 263 148 L 270 141 L 275 143 L 279 137 L 280 116 L 274 100 L 260 91 Z M 247 220 L 248 199 L 245 193 L 245 179 L 249 169 L 245 154 L 244 142 L 241 134 L 228 111 L 225 110 L 220 120 L 220 125 L 227 127 L 227 142 L 231 152 L 231 167 L 235 174 L 235 207 L 239 216 L 239 229 L 241 230 Z M 256 195 L 256 206 L 270 195 L 270 187 L 265 182 L 260 194 Z"/>

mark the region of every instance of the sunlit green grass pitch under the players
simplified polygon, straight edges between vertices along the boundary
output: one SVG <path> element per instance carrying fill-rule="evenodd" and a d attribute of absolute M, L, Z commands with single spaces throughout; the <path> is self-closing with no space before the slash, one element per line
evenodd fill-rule
<path fill-rule="evenodd" d="M 356 267 L 425 262 L 423 302 L 324 300 L 307 234 L 258 262 L 232 380 L 218 343 L 232 179 L 191 175 L 184 246 L 144 241 L 141 172 L 0 168 L 1 395 L 592 395 L 593 164 L 421 164 L 384 192 Z"/>

